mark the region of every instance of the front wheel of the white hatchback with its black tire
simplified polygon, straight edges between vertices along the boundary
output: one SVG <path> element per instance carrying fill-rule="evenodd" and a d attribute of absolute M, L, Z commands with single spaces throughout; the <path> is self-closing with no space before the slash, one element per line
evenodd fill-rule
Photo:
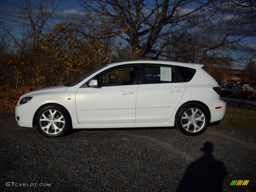
<path fill-rule="evenodd" d="M 59 120 L 60 122 L 59 121 L 55 122 L 52 119 L 50 119 L 50 117 L 51 117 L 50 111 L 52 113 L 54 113 L 56 111 L 56 113 L 54 115 L 57 118 L 56 120 Z M 46 119 L 46 121 L 44 121 L 44 120 L 40 121 L 40 120 L 42 120 L 41 117 L 43 114 L 45 115 L 46 118 L 48 118 L 48 119 Z M 61 118 L 61 115 L 63 116 L 63 118 Z M 49 124 L 51 124 L 51 125 L 49 125 Z M 44 127 L 44 126 L 47 126 L 48 129 L 47 128 L 43 129 L 42 127 Z M 58 129 L 55 129 L 56 126 Z M 70 126 L 71 126 L 70 116 L 69 116 L 67 110 L 65 108 L 63 108 L 61 105 L 57 105 L 57 104 L 46 105 L 42 109 L 40 109 L 36 115 L 36 127 L 39 130 L 39 132 L 41 134 L 43 134 L 44 136 L 48 136 L 48 137 L 64 136 L 68 133 Z M 61 130 L 59 130 L 59 129 L 61 129 Z M 56 130 L 56 132 L 55 132 L 55 130 Z M 48 131 L 48 133 L 46 133 L 47 131 Z"/>

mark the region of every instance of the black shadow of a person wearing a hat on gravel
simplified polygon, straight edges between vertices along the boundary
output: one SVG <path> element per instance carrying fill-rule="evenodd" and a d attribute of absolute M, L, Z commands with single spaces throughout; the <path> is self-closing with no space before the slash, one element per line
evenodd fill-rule
<path fill-rule="evenodd" d="M 205 142 L 204 147 L 200 149 L 204 155 L 188 166 L 177 192 L 222 191 L 222 181 L 228 172 L 224 163 L 212 155 L 213 149 L 211 142 Z"/>

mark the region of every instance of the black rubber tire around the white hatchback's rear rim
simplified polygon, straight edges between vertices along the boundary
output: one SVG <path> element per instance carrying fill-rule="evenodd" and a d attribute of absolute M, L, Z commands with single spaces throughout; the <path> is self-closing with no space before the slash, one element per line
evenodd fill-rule
<path fill-rule="evenodd" d="M 201 129 L 198 129 L 196 132 L 190 132 L 191 130 L 193 130 L 193 127 L 195 127 L 194 124 L 193 124 L 193 125 L 190 124 L 190 126 L 187 127 L 187 128 L 188 128 L 188 131 L 185 130 L 185 128 L 183 127 L 184 123 L 186 123 L 186 122 L 184 122 L 184 121 L 187 121 L 187 122 L 188 122 L 188 120 L 182 119 L 182 116 L 183 116 L 183 114 L 184 114 L 187 110 L 189 110 L 189 109 L 199 109 L 199 110 L 204 114 L 204 121 L 205 121 L 205 122 L 204 122 L 204 123 L 201 122 L 201 121 L 196 122 L 197 125 L 199 124 L 200 127 L 201 127 Z M 188 112 L 189 112 L 189 111 L 188 111 Z M 183 106 L 177 111 L 177 115 L 176 115 L 176 118 L 175 118 L 175 125 L 179 128 L 179 130 L 180 130 L 182 133 L 184 133 L 184 134 L 186 134 L 186 135 L 189 135 L 189 136 L 196 136 L 196 135 L 202 134 L 202 133 L 205 132 L 205 130 L 207 129 L 208 117 L 209 117 L 209 114 L 208 114 L 208 111 L 207 111 L 207 109 L 205 108 L 205 106 L 200 105 L 200 104 L 197 104 L 197 103 L 187 103 L 187 104 L 183 105 Z M 194 118 L 192 118 L 192 119 L 194 120 Z M 191 120 L 192 120 L 192 119 L 191 119 Z M 196 119 L 195 119 L 195 120 L 196 120 Z M 194 120 L 194 121 L 195 121 L 195 120 Z M 192 122 L 191 122 L 191 123 L 192 123 Z M 183 124 L 183 125 L 182 125 L 182 124 Z M 192 127 L 192 129 L 191 129 L 191 127 Z"/>

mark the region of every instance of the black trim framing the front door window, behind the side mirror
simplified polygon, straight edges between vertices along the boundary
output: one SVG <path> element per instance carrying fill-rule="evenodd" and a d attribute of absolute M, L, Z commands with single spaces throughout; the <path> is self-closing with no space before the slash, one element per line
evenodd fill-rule
<path fill-rule="evenodd" d="M 124 64 L 124 65 L 117 65 L 117 66 L 108 68 L 108 69 L 98 73 L 97 75 L 93 76 L 91 79 L 89 79 L 87 82 L 85 82 L 80 88 L 88 88 L 88 87 L 90 87 L 89 86 L 90 81 L 93 80 L 93 79 L 99 78 L 104 73 L 107 73 L 109 71 L 112 71 L 112 70 L 115 70 L 115 69 L 119 69 L 119 68 L 134 67 L 134 66 L 138 67 L 138 71 L 137 71 L 137 74 L 136 74 L 136 78 L 135 78 L 134 84 L 132 84 L 132 85 L 139 84 L 139 79 L 140 79 L 140 74 L 141 74 L 141 63 L 131 63 L 131 64 Z M 122 86 L 122 85 L 124 85 L 124 84 L 121 84 L 121 85 L 111 85 L 111 86 Z M 131 85 L 131 84 L 128 84 L 128 85 Z M 111 86 L 104 86 L 104 87 L 111 87 Z M 93 88 L 99 88 L 99 87 L 93 87 Z"/>

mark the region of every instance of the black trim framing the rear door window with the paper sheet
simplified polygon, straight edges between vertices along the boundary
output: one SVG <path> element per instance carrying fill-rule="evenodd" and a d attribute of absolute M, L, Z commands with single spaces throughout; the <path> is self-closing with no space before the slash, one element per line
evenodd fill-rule
<path fill-rule="evenodd" d="M 178 70 L 175 68 L 175 65 L 167 65 L 167 64 L 161 64 L 161 63 L 142 63 L 142 68 L 141 68 L 141 73 L 140 73 L 140 82 L 139 84 L 161 84 L 161 83 L 170 83 L 168 82 L 159 82 L 159 83 L 144 83 L 144 75 L 145 75 L 145 68 L 146 66 L 162 66 L 162 67 L 172 67 L 172 69 L 174 70 L 174 72 L 177 74 L 180 83 L 183 83 L 183 79 L 181 78 L 180 74 L 178 73 Z M 172 82 L 173 83 L 173 82 Z M 175 83 L 175 82 L 174 82 Z"/>

